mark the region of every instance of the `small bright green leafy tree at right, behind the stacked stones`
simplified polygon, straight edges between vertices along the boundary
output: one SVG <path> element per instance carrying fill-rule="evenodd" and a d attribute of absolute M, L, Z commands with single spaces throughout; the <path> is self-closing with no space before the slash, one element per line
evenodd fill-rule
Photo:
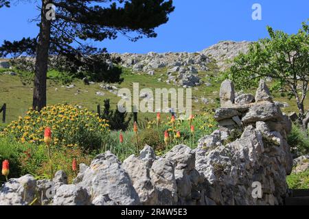
<path fill-rule="evenodd" d="M 253 42 L 247 54 L 241 53 L 225 73 L 239 88 L 256 86 L 262 78 L 273 79 L 272 90 L 294 96 L 299 120 L 305 119 L 304 101 L 309 82 L 309 27 L 302 23 L 297 34 L 286 34 L 267 27 L 269 38 Z M 307 125 L 307 124 L 305 124 Z"/>

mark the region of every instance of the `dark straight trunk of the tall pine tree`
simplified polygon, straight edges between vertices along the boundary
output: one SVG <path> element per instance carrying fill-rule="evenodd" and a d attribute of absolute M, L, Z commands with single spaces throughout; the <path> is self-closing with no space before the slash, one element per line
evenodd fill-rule
<path fill-rule="evenodd" d="M 48 49 L 50 40 L 51 21 L 47 21 L 46 5 L 50 0 L 42 0 L 40 34 L 38 37 L 38 47 L 36 48 L 36 66 L 33 88 L 33 110 L 40 111 L 46 106 L 46 78 Z"/>

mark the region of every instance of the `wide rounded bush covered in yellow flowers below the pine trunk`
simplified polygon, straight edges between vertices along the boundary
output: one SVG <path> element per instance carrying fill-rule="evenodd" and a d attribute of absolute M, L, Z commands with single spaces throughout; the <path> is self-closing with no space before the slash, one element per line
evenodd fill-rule
<path fill-rule="evenodd" d="M 51 127 L 55 146 L 80 146 L 82 149 L 100 149 L 108 138 L 109 125 L 98 115 L 72 105 L 51 105 L 41 112 L 29 110 L 25 117 L 13 121 L 1 136 L 12 136 L 19 142 L 40 144 L 43 130 Z"/>

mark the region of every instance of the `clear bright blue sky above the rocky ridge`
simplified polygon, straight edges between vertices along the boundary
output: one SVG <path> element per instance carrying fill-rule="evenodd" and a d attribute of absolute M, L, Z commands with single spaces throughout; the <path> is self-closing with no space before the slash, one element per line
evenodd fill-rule
<path fill-rule="evenodd" d="M 262 5 L 262 21 L 253 21 L 253 3 Z M 267 36 L 266 25 L 295 33 L 309 18 L 308 0 L 174 0 L 170 21 L 156 29 L 157 38 L 130 42 L 124 37 L 95 43 L 109 52 L 201 51 L 220 40 L 258 40 Z M 29 23 L 38 14 L 34 3 L 0 9 L 0 42 L 36 36 Z"/>

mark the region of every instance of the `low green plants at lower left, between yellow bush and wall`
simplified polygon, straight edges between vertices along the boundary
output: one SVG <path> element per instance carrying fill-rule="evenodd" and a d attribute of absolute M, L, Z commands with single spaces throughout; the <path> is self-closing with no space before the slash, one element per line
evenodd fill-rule
<path fill-rule="evenodd" d="M 51 157 L 54 172 L 64 170 L 69 181 L 76 175 L 71 168 L 72 160 L 75 158 L 78 162 L 90 164 L 93 155 L 89 155 L 77 147 L 57 148 L 52 146 Z M 45 144 L 21 143 L 11 138 L 0 138 L 0 162 L 8 159 L 10 162 L 9 178 L 21 177 L 31 174 L 38 179 L 49 177 L 49 162 L 47 159 L 47 149 Z M 5 177 L 0 175 L 0 182 L 5 181 Z"/>

